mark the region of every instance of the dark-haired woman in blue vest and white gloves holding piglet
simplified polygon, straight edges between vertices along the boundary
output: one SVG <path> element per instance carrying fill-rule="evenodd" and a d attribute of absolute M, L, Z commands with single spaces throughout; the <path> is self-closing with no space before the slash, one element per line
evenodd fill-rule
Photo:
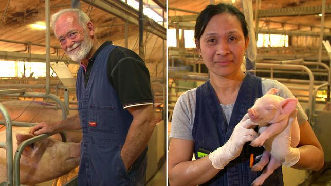
<path fill-rule="evenodd" d="M 259 156 L 263 148 L 245 144 L 258 134 L 244 115 L 270 88 L 277 88 L 284 98 L 294 96 L 275 80 L 241 71 L 248 41 L 245 17 L 235 7 L 208 5 L 198 16 L 195 43 L 210 80 L 181 95 L 176 103 L 168 161 L 171 185 L 250 185 L 261 174 L 249 168 L 250 155 Z M 319 170 L 324 163 L 322 147 L 299 104 L 298 109 L 300 154 L 287 165 Z M 193 153 L 195 161 L 191 161 Z M 264 184 L 283 185 L 281 167 Z"/>

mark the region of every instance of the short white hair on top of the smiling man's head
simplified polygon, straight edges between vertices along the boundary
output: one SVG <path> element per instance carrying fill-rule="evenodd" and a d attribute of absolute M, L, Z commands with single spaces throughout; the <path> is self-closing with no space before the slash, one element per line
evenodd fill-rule
<path fill-rule="evenodd" d="M 86 15 L 86 13 L 84 13 L 83 11 L 76 9 L 76 8 L 67 8 L 67 9 L 60 10 L 57 13 L 54 13 L 52 15 L 52 17 L 50 18 L 50 27 L 52 29 L 55 29 L 55 23 L 57 22 L 58 18 L 61 15 L 63 15 L 64 13 L 69 13 L 69 12 L 73 12 L 77 15 L 79 24 L 84 28 L 84 30 L 86 30 L 86 24 L 87 24 L 87 22 L 90 22 L 91 20 L 88 17 L 88 15 Z"/>

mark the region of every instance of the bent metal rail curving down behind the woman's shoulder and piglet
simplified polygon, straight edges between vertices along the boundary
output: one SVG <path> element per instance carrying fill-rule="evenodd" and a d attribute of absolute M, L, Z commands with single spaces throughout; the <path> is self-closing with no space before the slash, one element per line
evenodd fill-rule
<path fill-rule="evenodd" d="M 311 121 L 311 114 L 312 114 L 312 91 L 314 89 L 314 75 L 312 74 L 311 70 L 303 65 L 290 65 L 290 64 L 265 64 L 265 63 L 256 63 L 256 67 L 260 68 L 278 68 L 278 69 L 297 69 L 297 70 L 304 70 L 308 73 L 309 76 L 309 100 L 308 100 L 308 119 L 309 122 Z"/>

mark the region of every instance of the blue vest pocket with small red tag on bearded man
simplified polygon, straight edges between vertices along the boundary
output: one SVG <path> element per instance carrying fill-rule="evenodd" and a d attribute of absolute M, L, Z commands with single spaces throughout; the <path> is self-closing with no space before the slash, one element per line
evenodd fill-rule
<path fill-rule="evenodd" d="M 114 106 L 100 106 L 91 104 L 88 110 L 89 131 L 98 133 L 117 133 Z"/>

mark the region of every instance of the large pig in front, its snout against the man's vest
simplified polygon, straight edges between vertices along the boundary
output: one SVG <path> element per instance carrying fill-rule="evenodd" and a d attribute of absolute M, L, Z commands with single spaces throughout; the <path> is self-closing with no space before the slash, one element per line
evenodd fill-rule
<path fill-rule="evenodd" d="M 34 137 L 30 127 L 13 127 L 13 153 L 23 141 Z M 0 131 L 5 141 L 6 131 Z M 46 138 L 25 147 L 20 160 L 21 184 L 34 185 L 68 173 L 79 165 L 80 143 Z M 0 148 L 0 183 L 6 181 L 6 151 Z"/>

